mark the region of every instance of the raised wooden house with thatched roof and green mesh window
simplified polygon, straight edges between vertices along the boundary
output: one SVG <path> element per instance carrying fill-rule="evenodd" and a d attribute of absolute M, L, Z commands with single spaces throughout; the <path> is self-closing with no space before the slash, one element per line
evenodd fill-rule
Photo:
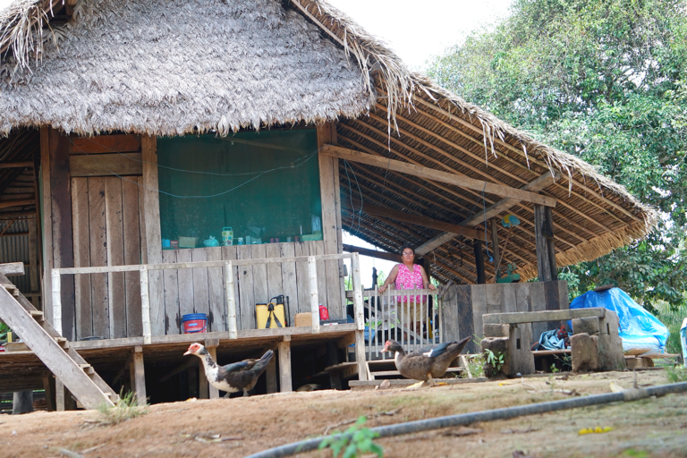
<path fill-rule="evenodd" d="M 0 131 L 0 242 L 30 247 L 10 259 L 2 245 L 0 262 L 25 262 L 22 297 L 107 383 L 131 364 L 140 394 L 143 355 L 174 373 L 199 338 L 182 334 L 189 313 L 208 316 L 202 339 L 225 359 L 278 347 L 283 390 L 292 345 L 360 349 L 343 230 L 387 259 L 418 247 L 457 288 L 506 265 L 553 282 L 657 218 L 579 158 L 410 72 L 320 0 L 16 0 L 0 12 Z M 212 246 L 228 227 L 232 243 Z M 542 307 L 567 307 L 557 285 Z M 280 294 L 292 326 L 256 329 L 255 304 Z M 506 307 L 511 293 L 498 294 L 452 300 L 441 338 L 478 332 L 481 313 Z M 346 318 L 347 296 L 356 322 L 319 327 L 318 304 Z M 314 326 L 293 327 L 297 312 Z M 45 367 L 21 361 L 38 383 Z M 154 401 L 174 398 L 151 384 Z"/>

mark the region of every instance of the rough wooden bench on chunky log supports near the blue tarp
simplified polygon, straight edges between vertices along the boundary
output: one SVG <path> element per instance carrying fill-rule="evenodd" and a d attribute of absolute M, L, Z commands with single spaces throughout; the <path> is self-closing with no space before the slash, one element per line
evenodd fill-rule
<path fill-rule="evenodd" d="M 625 368 L 618 316 L 603 308 L 489 313 L 482 316 L 482 352 L 505 354 L 501 371 L 509 377 L 532 374 L 532 323 L 573 321 L 570 337 L 573 372 Z"/>

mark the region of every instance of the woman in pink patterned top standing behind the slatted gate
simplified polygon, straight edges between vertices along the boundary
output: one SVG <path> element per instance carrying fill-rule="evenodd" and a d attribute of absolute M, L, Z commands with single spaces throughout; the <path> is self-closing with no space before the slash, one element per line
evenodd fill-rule
<path fill-rule="evenodd" d="M 384 284 L 379 287 L 379 293 L 384 293 L 389 284 L 395 283 L 396 290 L 415 290 L 415 289 L 436 289 L 434 284 L 429 283 L 429 278 L 425 269 L 419 264 L 415 264 L 415 250 L 404 246 L 401 249 L 401 259 L 403 264 L 397 264 L 391 269 L 389 276 L 386 277 Z M 398 296 L 397 303 L 408 303 L 408 294 Z M 420 317 L 426 316 L 424 301 L 420 296 L 411 296 L 412 321 L 415 322 L 415 332 L 420 333 Z"/>

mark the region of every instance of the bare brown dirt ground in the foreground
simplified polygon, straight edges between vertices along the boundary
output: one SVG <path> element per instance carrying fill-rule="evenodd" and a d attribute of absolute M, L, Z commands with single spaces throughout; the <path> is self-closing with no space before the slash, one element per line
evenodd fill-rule
<path fill-rule="evenodd" d="M 662 370 L 638 372 L 639 386 L 667 383 Z M 99 426 L 96 411 L 0 416 L 4 457 L 240 457 L 344 430 L 360 415 L 368 426 L 428 419 L 631 388 L 630 372 L 535 377 L 419 390 L 317 391 L 156 404 L 140 418 Z M 579 435 L 582 428 L 609 427 Z M 213 442 L 213 437 L 225 439 Z M 385 456 L 687 456 L 687 394 L 633 403 L 445 428 L 377 439 Z M 61 452 L 67 450 L 77 454 Z M 301 456 L 329 457 L 331 452 Z M 517 455 L 516 455 L 517 456 Z"/>

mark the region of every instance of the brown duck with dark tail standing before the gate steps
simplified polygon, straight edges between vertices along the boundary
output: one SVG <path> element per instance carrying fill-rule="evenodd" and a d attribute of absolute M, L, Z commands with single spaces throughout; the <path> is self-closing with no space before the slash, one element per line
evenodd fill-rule
<path fill-rule="evenodd" d="M 403 377 L 429 382 L 434 385 L 435 378 L 444 377 L 446 369 L 455 360 L 470 337 L 460 342 L 438 344 L 428 352 L 416 351 L 406 354 L 403 346 L 394 340 L 387 340 L 383 352 L 394 352 L 394 364 Z"/>

